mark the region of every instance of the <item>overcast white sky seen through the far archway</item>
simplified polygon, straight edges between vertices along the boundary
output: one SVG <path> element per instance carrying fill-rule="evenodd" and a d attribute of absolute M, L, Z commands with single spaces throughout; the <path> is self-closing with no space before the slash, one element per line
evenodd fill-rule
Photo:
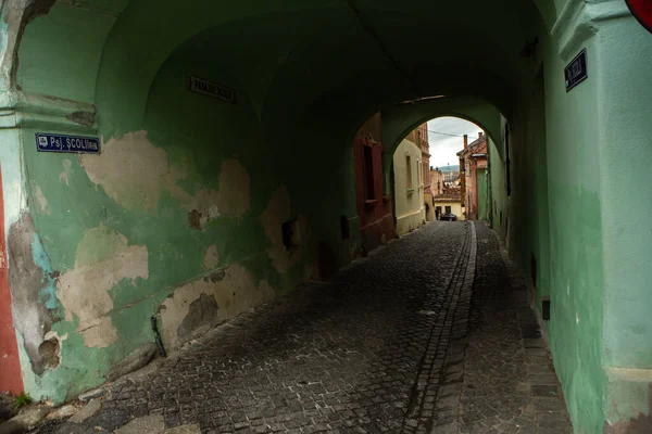
<path fill-rule="evenodd" d="M 462 137 L 444 136 L 447 135 L 464 136 L 468 135 L 468 143 L 478 138 L 478 132 L 482 129 L 468 120 L 459 117 L 438 117 L 428 122 L 428 141 L 430 143 L 430 166 L 444 167 L 450 164 L 455 166 L 460 164 L 459 151 L 464 148 Z M 437 132 L 434 132 L 437 131 Z"/>

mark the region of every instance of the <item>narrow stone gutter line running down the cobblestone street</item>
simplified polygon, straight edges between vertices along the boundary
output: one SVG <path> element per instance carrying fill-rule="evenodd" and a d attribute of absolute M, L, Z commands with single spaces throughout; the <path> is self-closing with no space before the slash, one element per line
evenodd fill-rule
<path fill-rule="evenodd" d="M 457 259 L 446 302 L 432 328 L 430 340 L 413 390 L 403 433 L 428 433 L 432 429 L 435 405 L 440 383 L 459 382 L 453 366 L 464 361 L 466 329 L 476 268 L 477 235 L 475 224 L 468 224 L 468 235 Z M 446 367 L 446 368 L 444 368 Z"/>

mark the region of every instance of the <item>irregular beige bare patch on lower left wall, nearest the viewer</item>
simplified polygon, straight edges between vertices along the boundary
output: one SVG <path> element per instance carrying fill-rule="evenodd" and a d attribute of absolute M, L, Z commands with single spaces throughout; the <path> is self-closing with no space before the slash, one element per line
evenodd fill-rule
<path fill-rule="evenodd" d="M 103 348 L 117 340 L 106 316 L 113 308 L 109 290 L 123 279 L 147 279 L 146 246 L 129 246 L 127 239 L 100 225 L 88 229 L 77 245 L 74 269 L 59 279 L 57 296 L 65 308 L 66 321 L 78 318 L 77 331 L 86 346 Z"/>

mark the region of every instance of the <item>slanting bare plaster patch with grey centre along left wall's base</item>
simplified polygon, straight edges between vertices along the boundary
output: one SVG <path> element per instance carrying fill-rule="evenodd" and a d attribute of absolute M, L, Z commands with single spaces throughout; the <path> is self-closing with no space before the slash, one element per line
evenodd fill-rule
<path fill-rule="evenodd" d="M 214 275 L 215 278 L 213 278 Z M 188 330 L 188 321 L 186 323 L 184 321 L 189 315 L 203 318 L 198 312 L 191 312 L 191 306 L 202 296 L 204 302 L 201 303 L 201 306 L 211 306 L 210 310 L 216 312 L 216 315 L 205 318 L 205 321 L 209 321 L 208 323 L 195 323 L 193 329 L 197 332 L 192 333 Z M 272 286 L 266 281 L 262 281 L 256 286 L 251 275 L 240 265 L 230 266 L 222 273 L 209 275 L 183 285 L 161 305 L 160 311 L 165 345 L 176 347 L 192 335 L 205 332 L 242 314 L 250 307 L 258 306 L 273 297 L 274 290 Z M 199 305 L 196 304 L 195 306 Z M 199 307 L 197 309 L 199 310 Z M 204 310 L 209 309 L 204 308 Z M 181 331 L 183 336 L 179 336 L 179 331 Z"/>

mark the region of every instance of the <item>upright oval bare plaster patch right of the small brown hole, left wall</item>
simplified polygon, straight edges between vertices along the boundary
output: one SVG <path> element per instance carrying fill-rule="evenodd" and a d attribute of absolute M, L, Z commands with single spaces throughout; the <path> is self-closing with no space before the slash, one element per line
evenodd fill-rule
<path fill-rule="evenodd" d="M 242 217 L 249 210 L 249 174 L 239 161 L 222 163 L 217 207 L 227 217 Z"/>

